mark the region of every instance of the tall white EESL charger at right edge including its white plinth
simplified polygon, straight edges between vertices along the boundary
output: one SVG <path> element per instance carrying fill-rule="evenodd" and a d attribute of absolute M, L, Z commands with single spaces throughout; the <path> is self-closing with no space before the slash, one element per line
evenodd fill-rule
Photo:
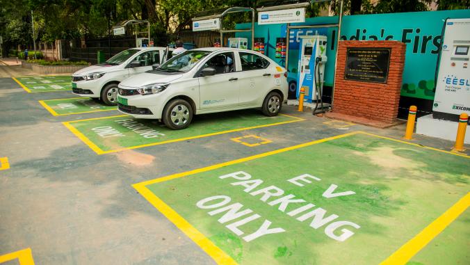
<path fill-rule="evenodd" d="M 470 115 L 470 19 L 444 23 L 432 114 L 418 118 L 416 134 L 455 140 L 459 115 Z M 464 143 L 470 143 L 469 125 Z"/>

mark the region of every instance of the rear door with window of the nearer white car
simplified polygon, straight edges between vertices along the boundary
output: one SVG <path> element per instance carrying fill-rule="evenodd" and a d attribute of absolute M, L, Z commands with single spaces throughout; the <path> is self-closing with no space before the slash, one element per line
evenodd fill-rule
<path fill-rule="evenodd" d="M 239 51 L 238 54 L 241 63 L 238 78 L 240 104 L 252 105 L 260 102 L 260 97 L 264 97 L 272 86 L 273 73 L 268 70 L 269 62 L 256 53 Z"/>

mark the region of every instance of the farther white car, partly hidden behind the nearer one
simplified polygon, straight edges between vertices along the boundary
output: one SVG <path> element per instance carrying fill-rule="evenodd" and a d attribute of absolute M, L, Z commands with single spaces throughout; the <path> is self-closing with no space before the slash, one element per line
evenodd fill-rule
<path fill-rule="evenodd" d="M 121 51 L 108 61 L 85 67 L 72 74 L 72 93 L 117 104 L 117 84 L 133 75 L 158 67 L 171 51 L 165 47 L 142 47 Z"/>

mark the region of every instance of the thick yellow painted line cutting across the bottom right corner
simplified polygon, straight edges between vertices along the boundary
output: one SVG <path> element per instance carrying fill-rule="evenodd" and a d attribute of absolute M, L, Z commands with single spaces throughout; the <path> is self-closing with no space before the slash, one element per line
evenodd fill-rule
<path fill-rule="evenodd" d="M 380 265 L 406 264 L 419 250 L 424 248 L 432 239 L 450 225 L 460 214 L 470 206 L 470 193 L 453 204 L 444 214 L 430 223 L 423 231 L 401 246 L 394 254 L 380 263 Z"/>

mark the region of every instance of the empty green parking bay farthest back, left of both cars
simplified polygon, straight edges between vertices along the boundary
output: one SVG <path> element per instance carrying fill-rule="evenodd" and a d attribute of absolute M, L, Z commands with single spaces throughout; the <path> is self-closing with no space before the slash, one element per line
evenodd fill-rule
<path fill-rule="evenodd" d="M 28 93 L 72 90 L 70 76 L 13 77 Z"/>

